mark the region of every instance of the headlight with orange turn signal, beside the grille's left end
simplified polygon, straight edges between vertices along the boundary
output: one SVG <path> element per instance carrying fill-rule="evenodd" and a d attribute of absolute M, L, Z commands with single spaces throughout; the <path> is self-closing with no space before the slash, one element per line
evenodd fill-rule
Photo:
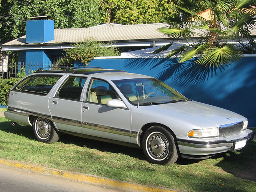
<path fill-rule="evenodd" d="M 208 128 L 208 129 L 195 129 L 188 132 L 188 137 L 205 138 L 205 137 L 218 137 L 219 128 Z"/>

